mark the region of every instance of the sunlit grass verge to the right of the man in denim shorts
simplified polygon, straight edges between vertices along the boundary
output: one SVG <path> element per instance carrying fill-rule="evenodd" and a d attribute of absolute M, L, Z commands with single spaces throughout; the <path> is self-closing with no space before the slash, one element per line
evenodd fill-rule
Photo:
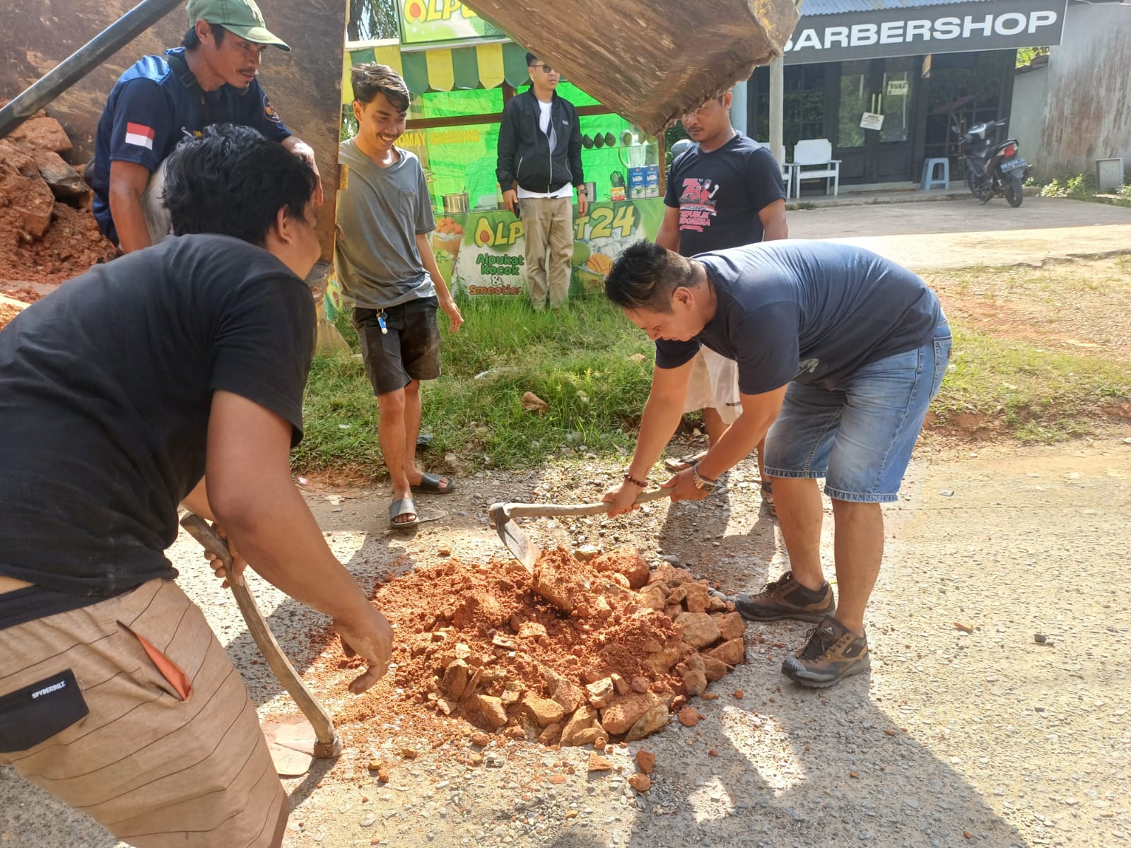
<path fill-rule="evenodd" d="M 933 406 L 940 423 L 979 413 L 1022 442 L 1093 432 L 1098 407 L 1131 397 L 1126 363 L 1051 353 L 960 327 L 950 362 Z"/>

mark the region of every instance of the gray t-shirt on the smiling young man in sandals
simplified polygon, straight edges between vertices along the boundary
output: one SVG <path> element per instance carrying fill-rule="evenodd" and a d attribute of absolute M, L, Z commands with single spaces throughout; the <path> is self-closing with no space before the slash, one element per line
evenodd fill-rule
<path fill-rule="evenodd" d="M 381 167 L 354 139 L 338 148 L 342 165 L 334 268 L 346 302 L 387 309 L 435 296 L 416 235 L 435 230 L 420 159 L 397 148 L 400 159 Z"/>

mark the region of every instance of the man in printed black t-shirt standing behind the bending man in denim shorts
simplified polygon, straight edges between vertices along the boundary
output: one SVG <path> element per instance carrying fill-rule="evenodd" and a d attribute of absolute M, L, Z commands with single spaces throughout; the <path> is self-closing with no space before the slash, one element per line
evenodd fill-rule
<path fill-rule="evenodd" d="M 709 250 L 788 236 L 782 168 L 769 150 L 731 124 L 727 92 L 683 116 L 697 144 L 672 162 L 664 196 L 664 220 L 656 244 L 692 257 Z M 703 347 L 696 355 L 684 413 L 703 410 L 708 443 L 714 444 L 742 412 L 739 372 L 732 360 Z M 682 470 L 706 453 L 671 459 Z M 772 488 L 765 475 L 765 444 L 758 445 L 762 497 L 774 513 Z"/>

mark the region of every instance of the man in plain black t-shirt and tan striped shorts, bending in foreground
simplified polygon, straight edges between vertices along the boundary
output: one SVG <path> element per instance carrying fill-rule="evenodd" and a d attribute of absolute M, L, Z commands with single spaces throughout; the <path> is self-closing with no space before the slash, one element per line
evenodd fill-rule
<path fill-rule="evenodd" d="M 178 505 L 333 616 L 368 665 L 352 691 L 383 674 L 391 630 L 291 479 L 314 171 L 222 127 L 167 172 L 175 237 L 0 331 L 0 765 L 131 845 L 266 848 L 286 795 L 239 674 L 173 582 Z"/>

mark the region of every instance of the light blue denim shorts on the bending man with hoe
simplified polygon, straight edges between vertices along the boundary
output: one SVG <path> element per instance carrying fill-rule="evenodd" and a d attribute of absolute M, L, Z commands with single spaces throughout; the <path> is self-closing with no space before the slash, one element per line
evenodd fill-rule
<path fill-rule="evenodd" d="M 943 318 L 927 344 L 869 363 L 835 389 L 789 383 L 766 436 L 766 475 L 823 477 L 838 501 L 897 500 L 949 358 Z"/>

